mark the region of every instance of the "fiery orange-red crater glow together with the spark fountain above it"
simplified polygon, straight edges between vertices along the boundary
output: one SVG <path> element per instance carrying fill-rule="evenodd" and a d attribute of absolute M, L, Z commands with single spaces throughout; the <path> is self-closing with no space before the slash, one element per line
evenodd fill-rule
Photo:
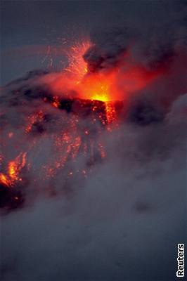
<path fill-rule="evenodd" d="M 101 68 L 90 72 L 83 55 L 91 46 L 89 40 L 76 43 L 67 51 L 69 60 L 65 71 L 51 82 L 53 91 L 67 94 L 77 94 L 78 98 L 101 100 L 127 100 L 163 74 L 166 69 L 160 67 L 148 70 L 131 59 L 130 50 L 121 55 L 120 62 L 109 69 Z M 53 103 L 57 107 L 56 101 Z"/>

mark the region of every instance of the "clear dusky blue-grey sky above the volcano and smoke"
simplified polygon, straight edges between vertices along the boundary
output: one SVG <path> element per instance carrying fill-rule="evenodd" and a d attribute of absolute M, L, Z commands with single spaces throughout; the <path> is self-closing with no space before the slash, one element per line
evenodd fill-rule
<path fill-rule="evenodd" d="M 145 28 L 176 20 L 182 8 L 183 1 L 1 1 L 1 84 L 46 67 L 46 48 L 59 46 L 59 37 L 71 43 L 90 30 L 124 22 Z M 43 46 L 43 53 L 34 46 Z"/>

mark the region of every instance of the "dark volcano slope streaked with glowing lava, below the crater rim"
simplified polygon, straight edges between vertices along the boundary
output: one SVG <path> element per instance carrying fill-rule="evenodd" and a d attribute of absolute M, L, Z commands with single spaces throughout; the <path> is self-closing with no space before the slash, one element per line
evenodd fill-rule
<path fill-rule="evenodd" d="M 30 72 L 6 86 L 1 96 L 0 207 L 4 211 L 24 206 L 30 178 L 36 192 L 45 189 L 49 195 L 56 192 L 49 186 L 55 185 L 56 178 L 62 178 L 62 190 L 70 178 L 84 180 L 105 159 L 101 134 L 110 134 L 120 121 L 122 101 L 67 98 L 55 96 L 45 86 L 30 86 L 33 77 L 44 75 Z"/>

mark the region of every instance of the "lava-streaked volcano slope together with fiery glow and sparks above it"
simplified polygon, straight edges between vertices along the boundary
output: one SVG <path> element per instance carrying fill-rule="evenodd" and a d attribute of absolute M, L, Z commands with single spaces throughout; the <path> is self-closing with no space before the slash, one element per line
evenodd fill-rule
<path fill-rule="evenodd" d="M 49 81 L 47 74 L 40 77 L 47 87 L 42 82 L 28 86 L 25 79 L 25 86 L 21 81 L 4 97 L 10 106 L 8 115 L 1 114 L 0 207 L 22 204 L 31 175 L 37 191 L 53 192 L 57 182 L 63 189 L 72 177 L 89 176 L 107 156 L 103 132 L 117 129 L 122 100 L 162 73 L 128 67 L 127 54 L 112 69 L 101 65 L 101 71 L 93 71 L 83 58 L 91 47 L 90 41 L 73 46 L 63 72 Z"/>

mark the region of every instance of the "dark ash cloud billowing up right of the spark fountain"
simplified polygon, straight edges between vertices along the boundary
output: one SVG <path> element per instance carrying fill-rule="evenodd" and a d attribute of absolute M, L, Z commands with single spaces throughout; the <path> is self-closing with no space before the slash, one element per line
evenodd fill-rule
<path fill-rule="evenodd" d="M 124 20 L 119 18 L 115 27 L 113 22 L 95 27 L 91 31 L 93 46 L 84 55 L 90 72 L 110 70 L 127 52 L 149 70 L 170 63 L 181 49 L 186 49 L 187 43 L 186 4 L 171 2 L 136 4 L 134 13 L 129 9 L 129 14 L 125 13 Z M 123 60 L 125 65 L 126 58 Z"/>

